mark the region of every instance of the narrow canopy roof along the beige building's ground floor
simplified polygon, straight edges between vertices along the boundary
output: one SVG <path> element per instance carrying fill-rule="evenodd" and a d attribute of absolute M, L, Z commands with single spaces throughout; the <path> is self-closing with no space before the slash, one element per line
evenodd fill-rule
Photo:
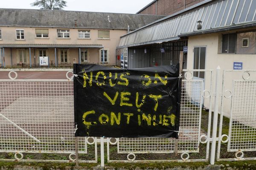
<path fill-rule="evenodd" d="M 13 48 L 102 48 L 101 44 L 0 44 L 0 47 Z"/>

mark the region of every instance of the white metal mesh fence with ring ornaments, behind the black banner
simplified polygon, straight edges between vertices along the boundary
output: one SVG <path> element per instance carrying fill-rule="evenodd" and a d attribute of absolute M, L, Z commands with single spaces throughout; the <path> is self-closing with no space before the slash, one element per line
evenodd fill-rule
<path fill-rule="evenodd" d="M 211 164 L 214 164 L 216 142 L 217 161 L 254 159 L 244 158 L 243 152 L 256 151 L 256 79 L 253 77 L 256 71 L 223 71 L 221 81 L 219 69 L 183 70 L 177 141 L 172 138 L 79 137 L 77 150 L 74 137 L 73 81 L 68 75 L 72 70 L 39 70 L 46 74 L 49 74 L 48 71 L 65 71 L 67 79 L 18 79 L 24 71 L 38 70 L 0 70 L 1 75 L 9 74 L 9 79 L 0 79 L 2 161 L 70 162 L 76 161 L 77 151 L 79 162 L 98 162 L 99 150 L 101 165 L 104 166 L 105 144 L 108 162 L 208 161 L 212 143 L 210 155 Z M 203 71 L 205 79 L 194 78 L 195 71 Z M 241 74 L 242 79 L 233 80 L 233 90 L 225 89 L 225 84 L 230 83 L 225 77 L 227 73 Z M 231 116 L 229 134 L 222 135 L 224 105 L 227 105 L 225 100 L 232 100 L 228 102 Z M 221 111 L 218 120 L 219 103 Z M 208 112 L 202 111 L 203 104 L 209 109 Z M 215 113 L 212 120 L 213 104 Z M 217 130 L 221 137 L 217 137 Z M 225 145 L 226 153 L 236 152 L 236 158 L 226 158 L 228 154 L 221 158 L 221 145 Z M 13 153 L 13 156 L 7 158 L 5 153 Z M 42 156 L 31 154 L 46 156 L 41 159 Z M 28 159 L 29 157 L 32 158 Z"/>

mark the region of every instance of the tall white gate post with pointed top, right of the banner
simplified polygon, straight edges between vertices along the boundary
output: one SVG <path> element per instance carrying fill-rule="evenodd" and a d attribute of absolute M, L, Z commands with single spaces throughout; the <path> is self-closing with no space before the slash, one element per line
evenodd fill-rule
<path fill-rule="evenodd" d="M 219 95 L 219 75 L 221 68 L 220 66 L 216 69 L 216 81 L 215 81 L 215 103 L 214 103 L 214 116 L 213 116 L 213 125 L 212 125 L 212 150 L 211 150 L 211 159 L 210 163 L 213 165 L 215 163 L 215 152 L 216 152 L 216 137 L 217 137 L 217 124 L 218 124 L 218 95 Z M 210 113 L 211 114 L 211 113 Z"/>

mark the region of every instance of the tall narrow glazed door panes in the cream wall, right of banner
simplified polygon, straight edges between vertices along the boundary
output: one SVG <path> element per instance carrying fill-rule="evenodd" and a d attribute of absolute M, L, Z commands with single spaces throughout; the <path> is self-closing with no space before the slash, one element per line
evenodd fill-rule
<path fill-rule="evenodd" d="M 206 47 L 194 48 L 194 69 L 205 69 Z M 204 79 L 204 71 L 195 71 L 194 77 Z"/>

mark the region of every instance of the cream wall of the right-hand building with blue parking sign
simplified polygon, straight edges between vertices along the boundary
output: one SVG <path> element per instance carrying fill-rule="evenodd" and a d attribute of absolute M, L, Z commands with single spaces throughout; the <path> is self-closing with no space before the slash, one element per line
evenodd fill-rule
<path fill-rule="evenodd" d="M 194 52 L 193 48 L 198 46 L 206 46 L 206 68 L 216 69 L 219 65 L 221 67 L 221 77 L 219 78 L 219 87 L 222 86 L 223 69 L 233 69 L 233 62 L 243 62 L 243 69 L 256 70 L 256 54 L 218 54 L 218 43 L 221 34 L 202 34 L 191 36 L 188 39 L 188 57 L 187 69 L 193 69 Z M 213 75 L 213 91 L 215 91 L 215 72 Z M 232 90 L 233 79 L 242 79 L 242 73 L 229 73 L 225 80 L 225 90 Z M 251 75 L 251 79 L 256 79 L 256 75 Z M 210 77 L 206 74 L 205 89 L 210 88 Z M 220 89 L 221 91 L 222 89 Z M 205 100 L 205 107 L 209 108 L 209 100 Z M 221 101 L 219 99 L 219 101 Z M 224 99 L 224 116 L 230 116 L 230 99 Z M 214 104 L 212 104 L 212 107 Z M 212 108 L 213 109 L 213 108 Z M 220 111 L 221 108 L 219 108 Z"/>

